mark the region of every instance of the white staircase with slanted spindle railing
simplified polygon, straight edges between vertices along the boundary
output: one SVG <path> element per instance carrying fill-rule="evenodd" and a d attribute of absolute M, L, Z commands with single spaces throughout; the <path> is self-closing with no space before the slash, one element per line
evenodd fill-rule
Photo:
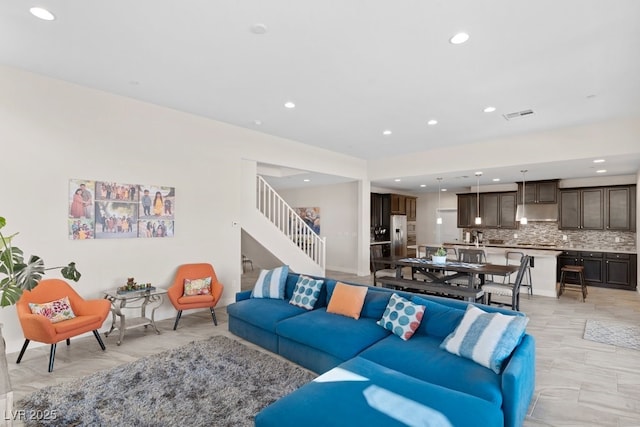
<path fill-rule="evenodd" d="M 243 222 L 245 231 L 291 270 L 324 276 L 325 239 L 314 232 L 264 178 L 256 178 L 255 211 Z"/>

